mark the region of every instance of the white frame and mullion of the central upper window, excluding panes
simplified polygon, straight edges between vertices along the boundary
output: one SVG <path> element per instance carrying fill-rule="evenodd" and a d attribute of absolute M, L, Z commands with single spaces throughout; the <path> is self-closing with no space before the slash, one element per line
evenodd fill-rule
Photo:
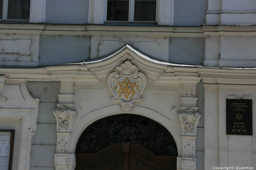
<path fill-rule="evenodd" d="M 158 5 L 159 0 L 156 0 L 156 9 L 155 9 L 155 21 L 134 21 L 134 12 L 135 12 L 135 0 L 129 0 L 129 14 L 128 21 L 108 21 L 107 20 L 107 12 L 108 12 L 108 0 L 105 0 L 105 19 L 104 23 L 134 23 L 134 24 L 157 24 L 158 22 Z"/>

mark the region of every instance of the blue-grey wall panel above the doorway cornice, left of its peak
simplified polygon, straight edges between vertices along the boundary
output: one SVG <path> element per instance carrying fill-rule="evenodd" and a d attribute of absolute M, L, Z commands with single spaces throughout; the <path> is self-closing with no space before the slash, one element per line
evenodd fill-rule
<path fill-rule="evenodd" d="M 90 58 L 89 36 L 41 35 L 39 66 L 79 62 Z"/>

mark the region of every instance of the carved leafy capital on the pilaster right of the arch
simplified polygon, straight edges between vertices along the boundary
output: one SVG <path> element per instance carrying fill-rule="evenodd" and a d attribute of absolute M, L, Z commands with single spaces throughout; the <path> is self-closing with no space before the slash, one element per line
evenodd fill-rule
<path fill-rule="evenodd" d="M 193 111 L 191 108 L 187 111 L 179 111 L 177 113 L 177 119 L 181 124 L 181 135 L 196 136 L 196 127 L 200 117 L 200 113 Z"/>

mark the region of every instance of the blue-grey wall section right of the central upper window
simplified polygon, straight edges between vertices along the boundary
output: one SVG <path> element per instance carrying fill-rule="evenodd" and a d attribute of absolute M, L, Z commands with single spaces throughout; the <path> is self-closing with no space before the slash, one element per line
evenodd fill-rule
<path fill-rule="evenodd" d="M 174 0 L 174 25 L 199 26 L 205 24 L 208 0 Z"/>

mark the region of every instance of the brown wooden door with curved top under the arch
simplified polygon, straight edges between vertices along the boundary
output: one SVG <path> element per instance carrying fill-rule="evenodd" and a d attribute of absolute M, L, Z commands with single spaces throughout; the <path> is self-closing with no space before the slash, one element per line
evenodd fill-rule
<path fill-rule="evenodd" d="M 75 170 L 176 170 L 177 157 L 155 155 L 142 146 L 118 143 L 96 154 L 76 154 Z"/>

